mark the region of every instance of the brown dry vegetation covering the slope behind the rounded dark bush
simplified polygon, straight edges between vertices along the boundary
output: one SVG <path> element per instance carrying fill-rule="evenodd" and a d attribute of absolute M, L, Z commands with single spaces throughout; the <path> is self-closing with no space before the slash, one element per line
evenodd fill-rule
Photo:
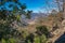
<path fill-rule="evenodd" d="M 61 27 L 63 20 L 62 13 L 57 13 L 55 15 L 50 14 L 48 17 L 38 18 L 35 24 L 28 25 L 25 29 L 29 32 L 35 32 L 37 26 L 47 26 L 49 30 L 52 30 L 55 25 Z"/>

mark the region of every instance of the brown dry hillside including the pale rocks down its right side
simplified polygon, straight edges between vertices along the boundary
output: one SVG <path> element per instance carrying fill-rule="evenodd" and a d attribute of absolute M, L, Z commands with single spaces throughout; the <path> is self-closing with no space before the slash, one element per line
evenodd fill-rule
<path fill-rule="evenodd" d="M 41 25 L 41 26 L 47 26 L 51 34 L 53 34 L 52 38 L 49 40 L 54 42 L 56 39 L 58 39 L 64 32 L 65 29 L 63 29 L 63 17 L 62 13 L 57 13 L 55 15 L 48 15 L 47 17 L 39 17 L 35 18 L 34 20 L 29 19 L 28 20 L 28 32 L 35 32 L 36 27 Z M 63 29 L 63 30 L 62 30 Z"/>

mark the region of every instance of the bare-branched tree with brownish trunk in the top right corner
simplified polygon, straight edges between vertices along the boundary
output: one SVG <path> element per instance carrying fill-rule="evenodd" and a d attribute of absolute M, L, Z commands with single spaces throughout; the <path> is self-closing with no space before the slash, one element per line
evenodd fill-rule
<path fill-rule="evenodd" d="M 58 12 L 63 12 L 63 17 L 65 18 L 65 0 L 55 0 L 57 3 Z"/>

